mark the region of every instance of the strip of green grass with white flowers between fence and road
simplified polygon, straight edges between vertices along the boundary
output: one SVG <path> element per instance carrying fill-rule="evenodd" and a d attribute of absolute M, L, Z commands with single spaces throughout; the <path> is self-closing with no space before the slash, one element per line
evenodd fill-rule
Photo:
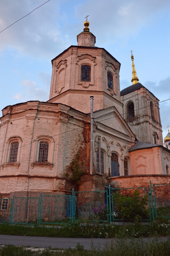
<path fill-rule="evenodd" d="M 138 238 L 151 236 L 170 236 L 170 224 L 151 222 L 147 225 L 135 223 L 131 226 L 114 224 L 74 223 L 62 227 L 0 225 L 0 234 L 21 236 L 73 237 L 73 238 Z"/>

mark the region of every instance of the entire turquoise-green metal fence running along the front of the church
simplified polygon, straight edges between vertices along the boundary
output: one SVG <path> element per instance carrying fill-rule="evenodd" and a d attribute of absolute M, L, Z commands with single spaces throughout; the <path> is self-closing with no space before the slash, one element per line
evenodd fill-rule
<path fill-rule="evenodd" d="M 73 222 L 151 221 L 170 219 L 170 184 L 73 190 L 71 195 L 40 195 L 0 199 L 0 224 L 41 225 Z"/>

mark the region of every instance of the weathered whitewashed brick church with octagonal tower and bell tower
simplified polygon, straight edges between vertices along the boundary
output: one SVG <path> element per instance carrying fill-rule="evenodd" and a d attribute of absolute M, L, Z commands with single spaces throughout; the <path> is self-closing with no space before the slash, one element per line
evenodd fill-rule
<path fill-rule="evenodd" d="M 138 82 L 133 55 L 132 85 L 120 91 L 120 63 L 95 46 L 88 21 L 84 26 L 78 45 L 52 60 L 50 99 L 2 110 L 0 198 L 169 182 L 170 133 L 164 147 L 159 100 Z"/>

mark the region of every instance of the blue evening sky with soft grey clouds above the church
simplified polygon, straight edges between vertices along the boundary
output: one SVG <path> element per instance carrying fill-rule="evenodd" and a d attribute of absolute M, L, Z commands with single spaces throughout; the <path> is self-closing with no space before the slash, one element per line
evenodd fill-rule
<path fill-rule="evenodd" d="M 1 0 L 0 31 L 46 1 Z M 139 82 L 160 101 L 170 99 L 169 0 L 50 0 L 0 33 L 0 109 L 49 99 L 51 60 L 77 45 L 86 15 L 95 46 L 121 63 L 120 90 L 132 84 L 133 50 Z M 159 107 L 164 138 L 170 100 Z"/>

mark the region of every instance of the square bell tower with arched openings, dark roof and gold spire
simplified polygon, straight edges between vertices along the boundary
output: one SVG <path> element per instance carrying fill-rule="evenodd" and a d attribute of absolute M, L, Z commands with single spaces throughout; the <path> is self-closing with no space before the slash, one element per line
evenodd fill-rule
<path fill-rule="evenodd" d="M 163 146 L 159 100 L 138 82 L 132 51 L 131 61 L 132 85 L 120 92 L 124 119 L 138 141 Z"/>

